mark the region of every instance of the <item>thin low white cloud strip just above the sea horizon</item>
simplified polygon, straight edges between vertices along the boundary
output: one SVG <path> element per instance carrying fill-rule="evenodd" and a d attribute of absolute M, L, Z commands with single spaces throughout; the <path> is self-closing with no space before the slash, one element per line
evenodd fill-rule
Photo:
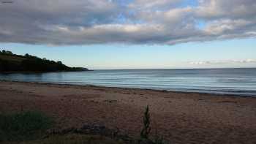
<path fill-rule="evenodd" d="M 191 61 L 189 64 L 194 65 L 206 65 L 206 64 L 248 64 L 256 63 L 255 59 L 244 59 L 244 60 L 222 60 L 222 61 Z"/>

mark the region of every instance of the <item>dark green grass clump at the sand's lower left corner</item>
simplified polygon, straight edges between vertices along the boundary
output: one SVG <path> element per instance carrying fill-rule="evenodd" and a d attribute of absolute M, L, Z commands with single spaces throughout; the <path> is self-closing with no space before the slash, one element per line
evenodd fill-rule
<path fill-rule="evenodd" d="M 53 121 L 37 111 L 0 115 L 0 142 L 23 141 L 41 138 Z"/>

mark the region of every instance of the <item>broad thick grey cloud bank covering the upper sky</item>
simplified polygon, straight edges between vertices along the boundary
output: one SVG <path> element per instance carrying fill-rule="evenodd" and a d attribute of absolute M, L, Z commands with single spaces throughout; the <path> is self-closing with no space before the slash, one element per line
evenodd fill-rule
<path fill-rule="evenodd" d="M 0 0 L 1 1 L 1 0 Z M 0 3 L 0 42 L 175 45 L 256 36 L 255 0 L 15 0 Z M 198 23 L 205 23 L 198 28 Z"/>

